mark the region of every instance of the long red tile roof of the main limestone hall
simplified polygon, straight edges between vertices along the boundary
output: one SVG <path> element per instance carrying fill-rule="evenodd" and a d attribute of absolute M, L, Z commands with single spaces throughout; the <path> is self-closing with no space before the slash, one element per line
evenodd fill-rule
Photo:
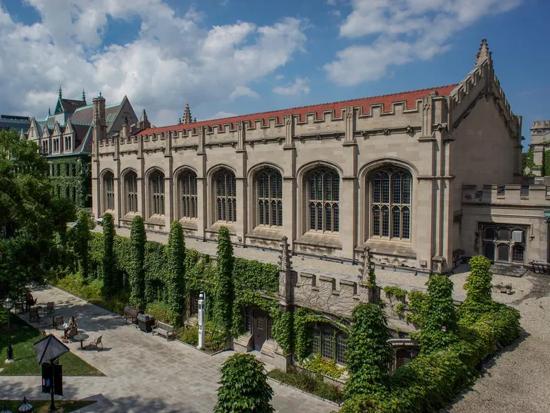
<path fill-rule="evenodd" d="M 283 116 L 293 114 L 300 116 L 300 120 L 305 120 L 306 114 L 316 113 L 317 118 L 322 117 L 322 113 L 329 110 L 334 110 L 336 116 L 340 116 L 340 110 L 347 106 L 353 107 L 362 107 L 363 113 L 371 112 L 371 105 L 382 105 L 383 111 L 388 111 L 391 109 L 392 103 L 405 102 L 407 109 L 414 109 L 416 107 L 417 99 L 421 99 L 424 96 L 428 96 L 430 92 L 437 92 L 439 96 L 448 96 L 452 89 L 457 86 L 455 85 L 445 85 L 439 87 L 430 87 L 428 89 L 418 89 L 412 90 L 410 92 L 400 92 L 396 94 L 387 94 L 382 96 L 372 96 L 369 98 L 359 98 L 352 100 L 342 100 L 340 102 L 333 103 L 322 103 L 320 105 L 310 105 L 310 106 L 301 106 L 301 107 L 292 107 L 289 109 L 275 110 L 272 112 L 259 112 L 256 114 L 248 115 L 238 115 L 231 116 L 229 118 L 220 118 L 220 119 L 210 119 L 210 120 L 201 120 L 200 122 L 188 123 L 184 125 L 170 125 L 164 127 L 153 127 L 150 129 L 145 129 L 138 132 L 137 134 L 156 134 L 159 132 L 166 131 L 177 131 L 181 129 L 191 129 L 200 126 L 214 126 L 219 125 L 220 131 L 225 129 L 224 125 L 230 123 L 233 128 L 234 123 L 238 120 L 248 120 L 250 123 L 254 124 L 256 120 L 263 120 L 263 125 L 269 124 L 269 118 L 277 118 L 277 123 L 283 122 Z"/>

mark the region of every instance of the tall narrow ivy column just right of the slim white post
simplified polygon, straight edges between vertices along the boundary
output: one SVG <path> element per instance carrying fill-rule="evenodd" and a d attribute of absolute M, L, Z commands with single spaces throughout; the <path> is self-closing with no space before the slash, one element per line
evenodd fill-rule
<path fill-rule="evenodd" d="M 214 279 L 214 321 L 225 337 L 228 337 L 232 326 L 233 264 L 233 246 L 229 230 L 222 226 L 218 233 L 216 277 Z"/>

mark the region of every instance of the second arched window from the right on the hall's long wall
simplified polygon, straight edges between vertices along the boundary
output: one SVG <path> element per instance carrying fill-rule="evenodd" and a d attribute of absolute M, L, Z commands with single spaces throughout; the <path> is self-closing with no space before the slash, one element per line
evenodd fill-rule
<path fill-rule="evenodd" d="M 340 176 L 331 168 L 315 169 L 307 179 L 309 230 L 340 230 Z"/>

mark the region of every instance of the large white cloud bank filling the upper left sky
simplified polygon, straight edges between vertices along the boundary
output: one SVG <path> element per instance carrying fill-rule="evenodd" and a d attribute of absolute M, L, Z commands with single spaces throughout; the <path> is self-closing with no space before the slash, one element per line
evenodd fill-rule
<path fill-rule="evenodd" d="M 155 124 L 177 123 L 187 101 L 193 109 L 256 96 L 248 85 L 292 60 L 306 41 L 307 25 L 295 18 L 208 27 L 200 11 L 181 17 L 162 0 L 133 0 L 131 8 L 111 0 L 25 1 L 39 23 L 17 23 L 0 8 L 0 96 L 15 96 L 3 100 L 6 113 L 45 115 L 61 84 L 67 98 L 79 98 L 83 87 L 88 98 L 101 90 L 108 102 L 127 94 Z M 109 21 L 118 19 L 141 21 L 136 39 L 105 44 Z"/>

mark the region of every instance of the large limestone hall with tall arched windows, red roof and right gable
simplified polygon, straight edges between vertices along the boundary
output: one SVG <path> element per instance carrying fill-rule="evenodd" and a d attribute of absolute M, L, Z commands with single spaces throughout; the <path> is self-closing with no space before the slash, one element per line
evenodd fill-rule
<path fill-rule="evenodd" d="M 94 99 L 93 213 L 120 226 L 137 214 L 168 232 L 180 220 L 209 241 L 223 225 L 237 246 L 278 250 L 285 236 L 293 255 L 353 264 L 369 246 L 375 264 L 428 273 L 479 253 L 475 234 L 496 222 L 525 231 L 521 263 L 548 260 L 548 189 L 525 198 L 509 187 L 522 182 L 521 117 L 485 40 L 453 85 L 199 122 L 188 113 L 168 127 L 144 111 L 110 137 L 102 112 Z M 492 195 L 500 187 L 506 202 Z"/>

